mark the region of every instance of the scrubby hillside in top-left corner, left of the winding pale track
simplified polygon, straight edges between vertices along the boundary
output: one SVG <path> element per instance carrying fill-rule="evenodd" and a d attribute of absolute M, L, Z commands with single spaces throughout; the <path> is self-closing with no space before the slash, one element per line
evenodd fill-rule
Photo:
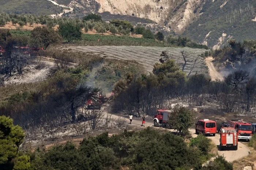
<path fill-rule="evenodd" d="M 17 14 L 51 15 L 61 13 L 62 8 L 47 0 L 1 0 L 0 11 Z"/>

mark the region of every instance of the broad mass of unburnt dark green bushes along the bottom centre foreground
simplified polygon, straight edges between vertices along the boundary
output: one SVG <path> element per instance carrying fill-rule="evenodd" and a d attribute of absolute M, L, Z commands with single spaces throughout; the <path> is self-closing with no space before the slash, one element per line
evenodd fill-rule
<path fill-rule="evenodd" d="M 161 141 L 161 142 L 159 142 Z M 157 147 L 155 147 L 157 146 Z M 55 146 L 49 151 L 36 150 L 31 167 L 38 169 L 101 170 L 131 169 L 174 170 L 200 167 L 196 148 L 188 147 L 184 139 L 171 132 L 152 128 L 108 137 L 108 133 L 84 139 L 79 147 L 72 143 Z M 184 156 L 186 155 L 186 156 Z M 155 161 L 152 161 L 155 160 Z"/>

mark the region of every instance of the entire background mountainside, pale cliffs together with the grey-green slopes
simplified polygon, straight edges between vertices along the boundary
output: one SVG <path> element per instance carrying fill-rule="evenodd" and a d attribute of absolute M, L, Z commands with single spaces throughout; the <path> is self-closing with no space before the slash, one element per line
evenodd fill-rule
<path fill-rule="evenodd" d="M 8 4 L 18 0 L 3 0 L 4 11 L 17 12 Z M 25 0 L 22 0 L 25 2 Z M 26 0 L 28 3 L 33 0 Z M 49 0 L 39 3 L 40 6 L 27 5 L 25 13 L 38 14 L 60 6 Z M 239 41 L 243 39 L 256 39 L 255 0 L 53 0 L 59 5 L 73 9 L 62 16 L 82 17 L 87 13 L 101 13 L 103 19 L 123 19 L 132 23 L 156 24 L 166 30 L 165 35 L 175 32 L 178 35 L 188 36 L 198 43 L 210 47 L 220 48 L 231 38 Z M 10 8 L 10 9 L 9 9 Z M 62 8 L 62 7 L 61 7 Z M 0 7 L 1 9 L 1 7 Z M 31 11 L 33 9 L 33 11 Z M 47 11 L 48 10 L 48 11 Z M 68 10 L 68 9 L 62 9 Z M 21 11 L 22 13 L 22 11 Z M 36 14 L 36 13 L 35 13 Z M 56 15 L 57 15 L 56 14 Z M 148 27 L 152 27 L 149 25 Z M 155 31 L 158 31 L 155 30 Z"/>

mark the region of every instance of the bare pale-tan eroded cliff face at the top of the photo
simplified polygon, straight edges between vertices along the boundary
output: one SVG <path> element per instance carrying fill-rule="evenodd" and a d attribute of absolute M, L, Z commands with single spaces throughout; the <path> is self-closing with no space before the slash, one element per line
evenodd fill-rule
<path fill-rule="evenodd" d="M 147 18 L 180 34 L 196 17 L 205 0 L 96 0 L 98 12 Z"/>

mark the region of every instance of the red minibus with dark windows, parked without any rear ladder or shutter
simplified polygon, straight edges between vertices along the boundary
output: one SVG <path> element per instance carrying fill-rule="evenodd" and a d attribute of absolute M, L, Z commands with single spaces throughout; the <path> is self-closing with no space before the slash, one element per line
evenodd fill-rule
<path fill-rule="evenodd" d="M 210 135 L 212 134 L 215 136 L 216 134 L 216 121 L 209 120 L 209 119 L 203 119 L 198 120 L 196 123 L 196 134 L 203 134 L 203 135 Z"/>

